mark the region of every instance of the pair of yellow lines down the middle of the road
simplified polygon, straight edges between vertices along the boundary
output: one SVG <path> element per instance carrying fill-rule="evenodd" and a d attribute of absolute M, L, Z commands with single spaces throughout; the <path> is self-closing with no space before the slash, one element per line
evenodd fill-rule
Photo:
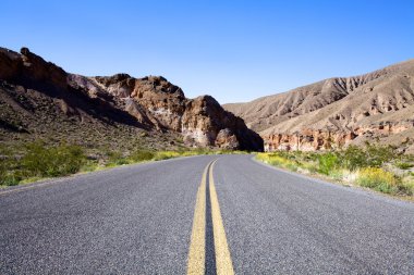
<path fill-rule="evenodd" d="M 206 202 L 210 200 L 212 235 L 216 252 L 216 273 L 234 274 L 230 250 L 226 238 L 223 222 L 221 218 L 219 200 L 217 198 L 212 168 L 217 160 L 210 162 L 203 173 L 202 184 L 198 187 L 194 211 L 193 230 L 191 236 L 190 252 L 187 259 L 187 274 L 205 274 L 206 265 Z M 207 187 L 208 177 L 208 187 Z M 209 188 L 210 198 L 206 198 L 206 188 Z"/>

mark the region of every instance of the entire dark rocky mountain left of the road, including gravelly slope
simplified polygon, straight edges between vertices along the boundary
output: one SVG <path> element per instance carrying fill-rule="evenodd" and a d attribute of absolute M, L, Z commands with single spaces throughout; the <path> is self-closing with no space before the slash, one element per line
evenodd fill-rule
<path fill-rule="evenodd" d="M 187 99 L 161 76 L 70 74 L 22 48 L 0 48 L 0 141 L 94 147 L 175 145 L 263 150 L 263 139 L 209 96 Z"/>

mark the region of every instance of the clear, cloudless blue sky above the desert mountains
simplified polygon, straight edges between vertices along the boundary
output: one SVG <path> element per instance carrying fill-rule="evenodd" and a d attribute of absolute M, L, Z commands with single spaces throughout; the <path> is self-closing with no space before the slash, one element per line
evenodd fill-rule
<path fill-rule="evenodd" d="M 414 58 L 412 0 L 1 0 L 0 46 L 248 101 Z"/>

